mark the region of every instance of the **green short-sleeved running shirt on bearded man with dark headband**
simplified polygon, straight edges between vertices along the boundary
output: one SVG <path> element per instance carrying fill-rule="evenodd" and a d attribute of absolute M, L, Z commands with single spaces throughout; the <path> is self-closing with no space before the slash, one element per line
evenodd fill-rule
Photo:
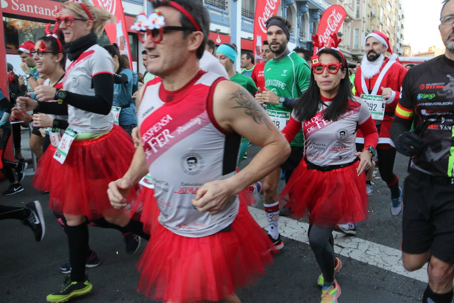
<path fill-rule="evenodd" d="M 311 70 L 306 60 L 292 52 L 287 57 L 275 61 L 269 60 L 265 64 L 265 87 L 279 97 L 298 98 L 301 91 L 309 87 Z M 290 120 L 292 108 L 281 105 L 268 104 L 267 113 L 279 130 L 282 130 Z M 291 146 L 304 146 L 302 130 L 290 143 Z"/>

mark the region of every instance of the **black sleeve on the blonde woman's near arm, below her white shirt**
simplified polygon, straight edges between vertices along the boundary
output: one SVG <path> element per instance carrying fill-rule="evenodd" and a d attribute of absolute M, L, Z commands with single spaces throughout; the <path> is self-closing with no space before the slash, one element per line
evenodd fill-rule
<path fill-rule="evenodd" d="M 92 78 L 92 83 L 94 96 L 68 91 L 64 103 L 87 112 L 108 115 L 113 102 L 113 76 L 107 73 L 97 74 Z"/>

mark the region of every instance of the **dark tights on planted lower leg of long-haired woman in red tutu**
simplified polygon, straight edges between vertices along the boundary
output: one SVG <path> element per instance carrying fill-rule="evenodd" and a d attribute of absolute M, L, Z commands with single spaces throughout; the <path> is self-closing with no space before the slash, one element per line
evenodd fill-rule
<path fill-rule="evenodd" d="M 309 244 L 314 251 L 315 260 L 321 269 L 324 285 L 333 285 L 335 255 L 333 248 L 332 228 L 309 226 Z"/>

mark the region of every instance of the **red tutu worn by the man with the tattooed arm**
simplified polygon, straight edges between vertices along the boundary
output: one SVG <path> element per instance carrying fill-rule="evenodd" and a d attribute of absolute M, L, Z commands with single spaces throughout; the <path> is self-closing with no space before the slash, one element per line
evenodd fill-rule
<path fill-rule="evenodd" d="M 157 223 L 156 210 L 156 206 L 151 209 L 155 223 L 137 265 L 141 273 L 138 290 L 154 300 L 218 301 L 256 282 L 273 262 L 272 243 L 244 204 L 231 231 L 200 238 L 164 228 Z"/>

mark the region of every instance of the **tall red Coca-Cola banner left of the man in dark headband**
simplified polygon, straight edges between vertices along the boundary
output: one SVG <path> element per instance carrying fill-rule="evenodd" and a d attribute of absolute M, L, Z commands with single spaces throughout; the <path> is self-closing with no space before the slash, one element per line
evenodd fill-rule
<path fill-rule="evenodd" d="M 277 8 L 279 7 L 280 0 L 257 0 L 255 5 L 255 17 L 254 17 L 254 56 L 257 60 L 256 63 L 260 63 L 262 58 L 260 56 L 262 41 L 266 40 L 266 26 L 265 22 L 269 17 L 276 15 Z M 257 37 L 259 37 L 257 39 Z M 257 43 L 258 42 L 258 43 Z"/>

